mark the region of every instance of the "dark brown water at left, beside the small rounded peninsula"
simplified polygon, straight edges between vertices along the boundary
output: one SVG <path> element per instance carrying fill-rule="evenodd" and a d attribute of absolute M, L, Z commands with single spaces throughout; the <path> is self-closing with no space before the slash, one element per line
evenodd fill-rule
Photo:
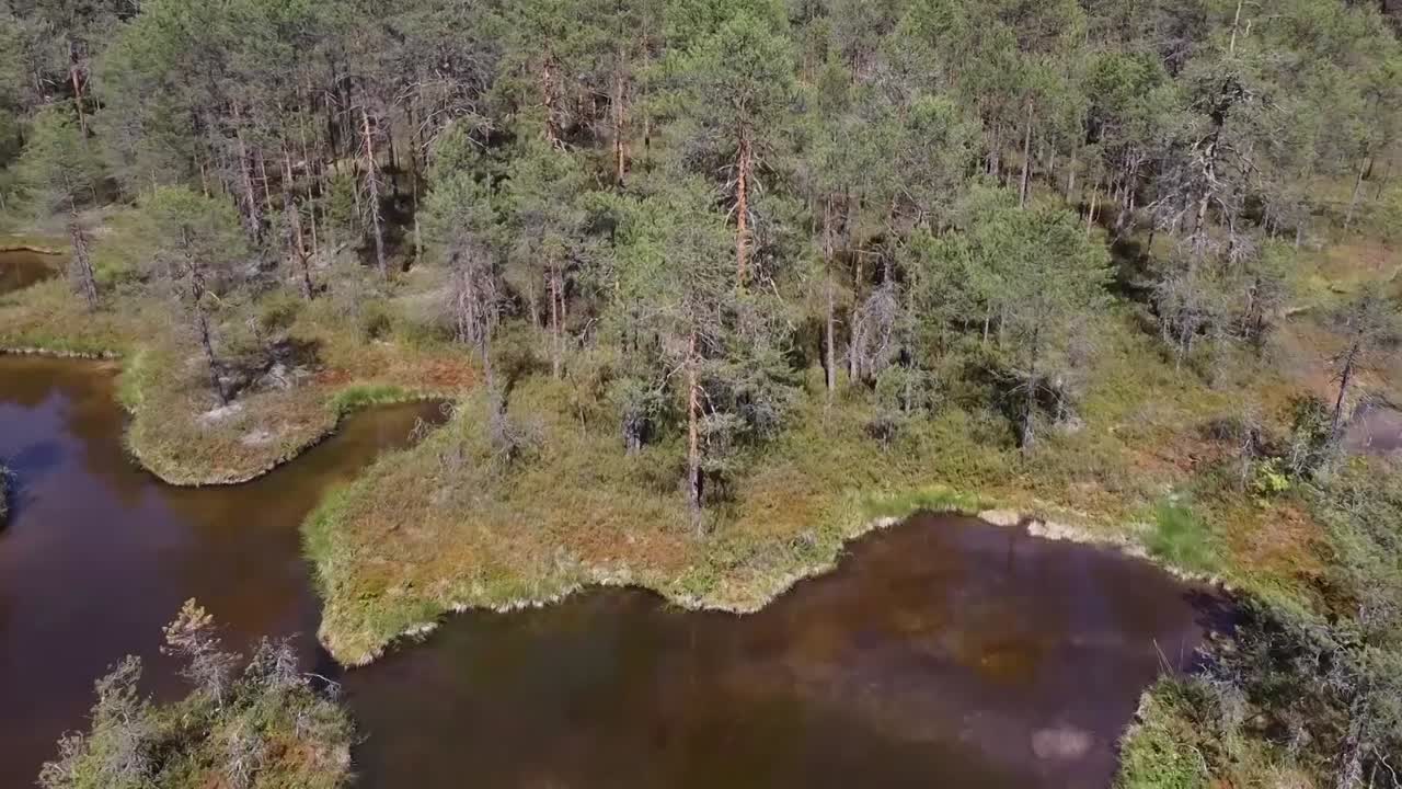
<path fill-rule="evenodd" d="M 125 654 L 149 687 L 177 689 L 161 626 L 198 598 L 240 649 L 314 633 L 318 606 L 299 524 L 334 483 L 404 445 L 433 406 L 350 418 L 321 446 L 258 482 L 177 489 L 122 449 L 112 376 L 90 362 L 0 357 L 0 458 L 20 482 L 0 531 L 0 786 L 29 786 L 93 681 Z M 308 661 L 313 639 L 303 639 Z"/>

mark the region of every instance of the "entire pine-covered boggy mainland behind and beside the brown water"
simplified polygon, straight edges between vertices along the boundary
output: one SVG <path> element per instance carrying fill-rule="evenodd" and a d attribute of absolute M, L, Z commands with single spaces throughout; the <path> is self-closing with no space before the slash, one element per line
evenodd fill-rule
<path fill-rule="evenodd" d="M 15 4 L 0 220 L 70 265 L 0 295 L 0 347 L 122 354 L 177 483 L 454 400 L 306 525 L 345 663 L 590 583 L 749 611 L 997 504 L 1260 609 L 1154 692 L 1126 786 L 1380 785 L 1402 650 L 1360 595 L 1398 604 L 1399 521 L 1342 434 L 1402 400 L 1385 13 Z"/>

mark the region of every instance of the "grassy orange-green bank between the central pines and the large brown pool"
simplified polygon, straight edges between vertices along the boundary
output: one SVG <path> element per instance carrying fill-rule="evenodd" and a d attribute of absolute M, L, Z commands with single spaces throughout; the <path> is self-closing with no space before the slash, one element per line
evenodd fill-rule
<path fill-rule="evenodd" d="M 447 427 L 381 459 L 310 518 L 322 640 L 338 660 L 365 663 L 444 612 L 537 604 L 587 584 L 753 611 L 830 567 L 873 524 L 994 503 L 1302 599 L 1309 535 L 1280 541 L 1283 524 L 1300 521 L 1298 501 L 1242 496 L 1223 470 L 1230 446 L 1204 437 L 1234 392 L 1179 375 L 1150 338 L 1124 330 L 1129 320 L 1102 327 L 1113 352 L 1089 376 L 1084 425 L 1030 456 L 998 414 L 956 397 L 882 445 L 866 432 L 869 403 L 824 406 L 815 372 L 795 427 L 707 512 L 702 536 L 677 484 L 684 448 L 625 453 L 576 382 L 516 385 L 510 418 L 534 438 L 512 462 L 482 427 L 485 402 L 467 399 Z M 1255 368 L 1242 376 L 1273 383 Z"/>

